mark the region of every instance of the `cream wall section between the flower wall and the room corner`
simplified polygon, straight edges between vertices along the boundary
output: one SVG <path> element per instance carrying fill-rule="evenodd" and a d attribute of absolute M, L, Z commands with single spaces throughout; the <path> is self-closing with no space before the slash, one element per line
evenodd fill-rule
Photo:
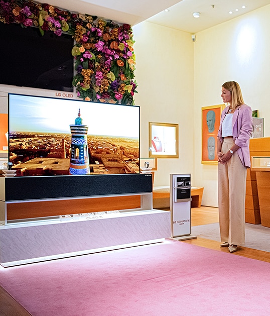
<path fill-rule="evenodd" d="M 169 185 L 170 173 L 193 174 L 193 50 L 191 35 L 149 22 L 133 28 L 136 40 L 134 100 L 141 107 L 141 157 L 148 157 L 149 122 L 179 125 L 179 158 L 159 158 L 156 186 Z"/>

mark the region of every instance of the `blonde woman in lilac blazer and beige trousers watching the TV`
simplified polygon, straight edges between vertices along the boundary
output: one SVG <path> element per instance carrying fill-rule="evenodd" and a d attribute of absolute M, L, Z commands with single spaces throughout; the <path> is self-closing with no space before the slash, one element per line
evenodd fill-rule
<path fill-rule="evenodd" d="M 222 111 L 217 135 L 220 246 L 235 252 L 237 245 L 245 240 L 246 168 L 250 168 L 252 110 L 244 104 L 235 81 L 222 85 L 221 97 L 229 105 Z"/>

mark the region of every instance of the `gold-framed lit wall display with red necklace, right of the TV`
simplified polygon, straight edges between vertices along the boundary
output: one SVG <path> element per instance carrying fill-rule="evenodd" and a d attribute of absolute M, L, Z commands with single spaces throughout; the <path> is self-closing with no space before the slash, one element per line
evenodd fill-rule
<path fill-rule="evenodd" d="M 178 124 L 149 122 L 149 157 L 178 158 Z"/>

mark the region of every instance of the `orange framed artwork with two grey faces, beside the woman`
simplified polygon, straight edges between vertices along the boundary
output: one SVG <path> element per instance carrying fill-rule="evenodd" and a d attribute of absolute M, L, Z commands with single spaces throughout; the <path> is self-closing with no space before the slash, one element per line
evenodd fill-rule
<path fill-rule="evenodd" d="M 202 108 L 202 163 L 217 164 L 217 132 L 225 104 Z"/>

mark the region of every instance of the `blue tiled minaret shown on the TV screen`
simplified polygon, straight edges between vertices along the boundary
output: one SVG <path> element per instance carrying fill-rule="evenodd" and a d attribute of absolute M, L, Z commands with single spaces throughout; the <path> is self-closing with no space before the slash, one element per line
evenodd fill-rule
<path fill-rule="evenodd" d="M 71 131 L 71 154 L 69 174 L 82 175 L 90 174 L 87 131 L 88 126 L 82 124 L 80 109 L 75 125 L 70 125 Z"/>

